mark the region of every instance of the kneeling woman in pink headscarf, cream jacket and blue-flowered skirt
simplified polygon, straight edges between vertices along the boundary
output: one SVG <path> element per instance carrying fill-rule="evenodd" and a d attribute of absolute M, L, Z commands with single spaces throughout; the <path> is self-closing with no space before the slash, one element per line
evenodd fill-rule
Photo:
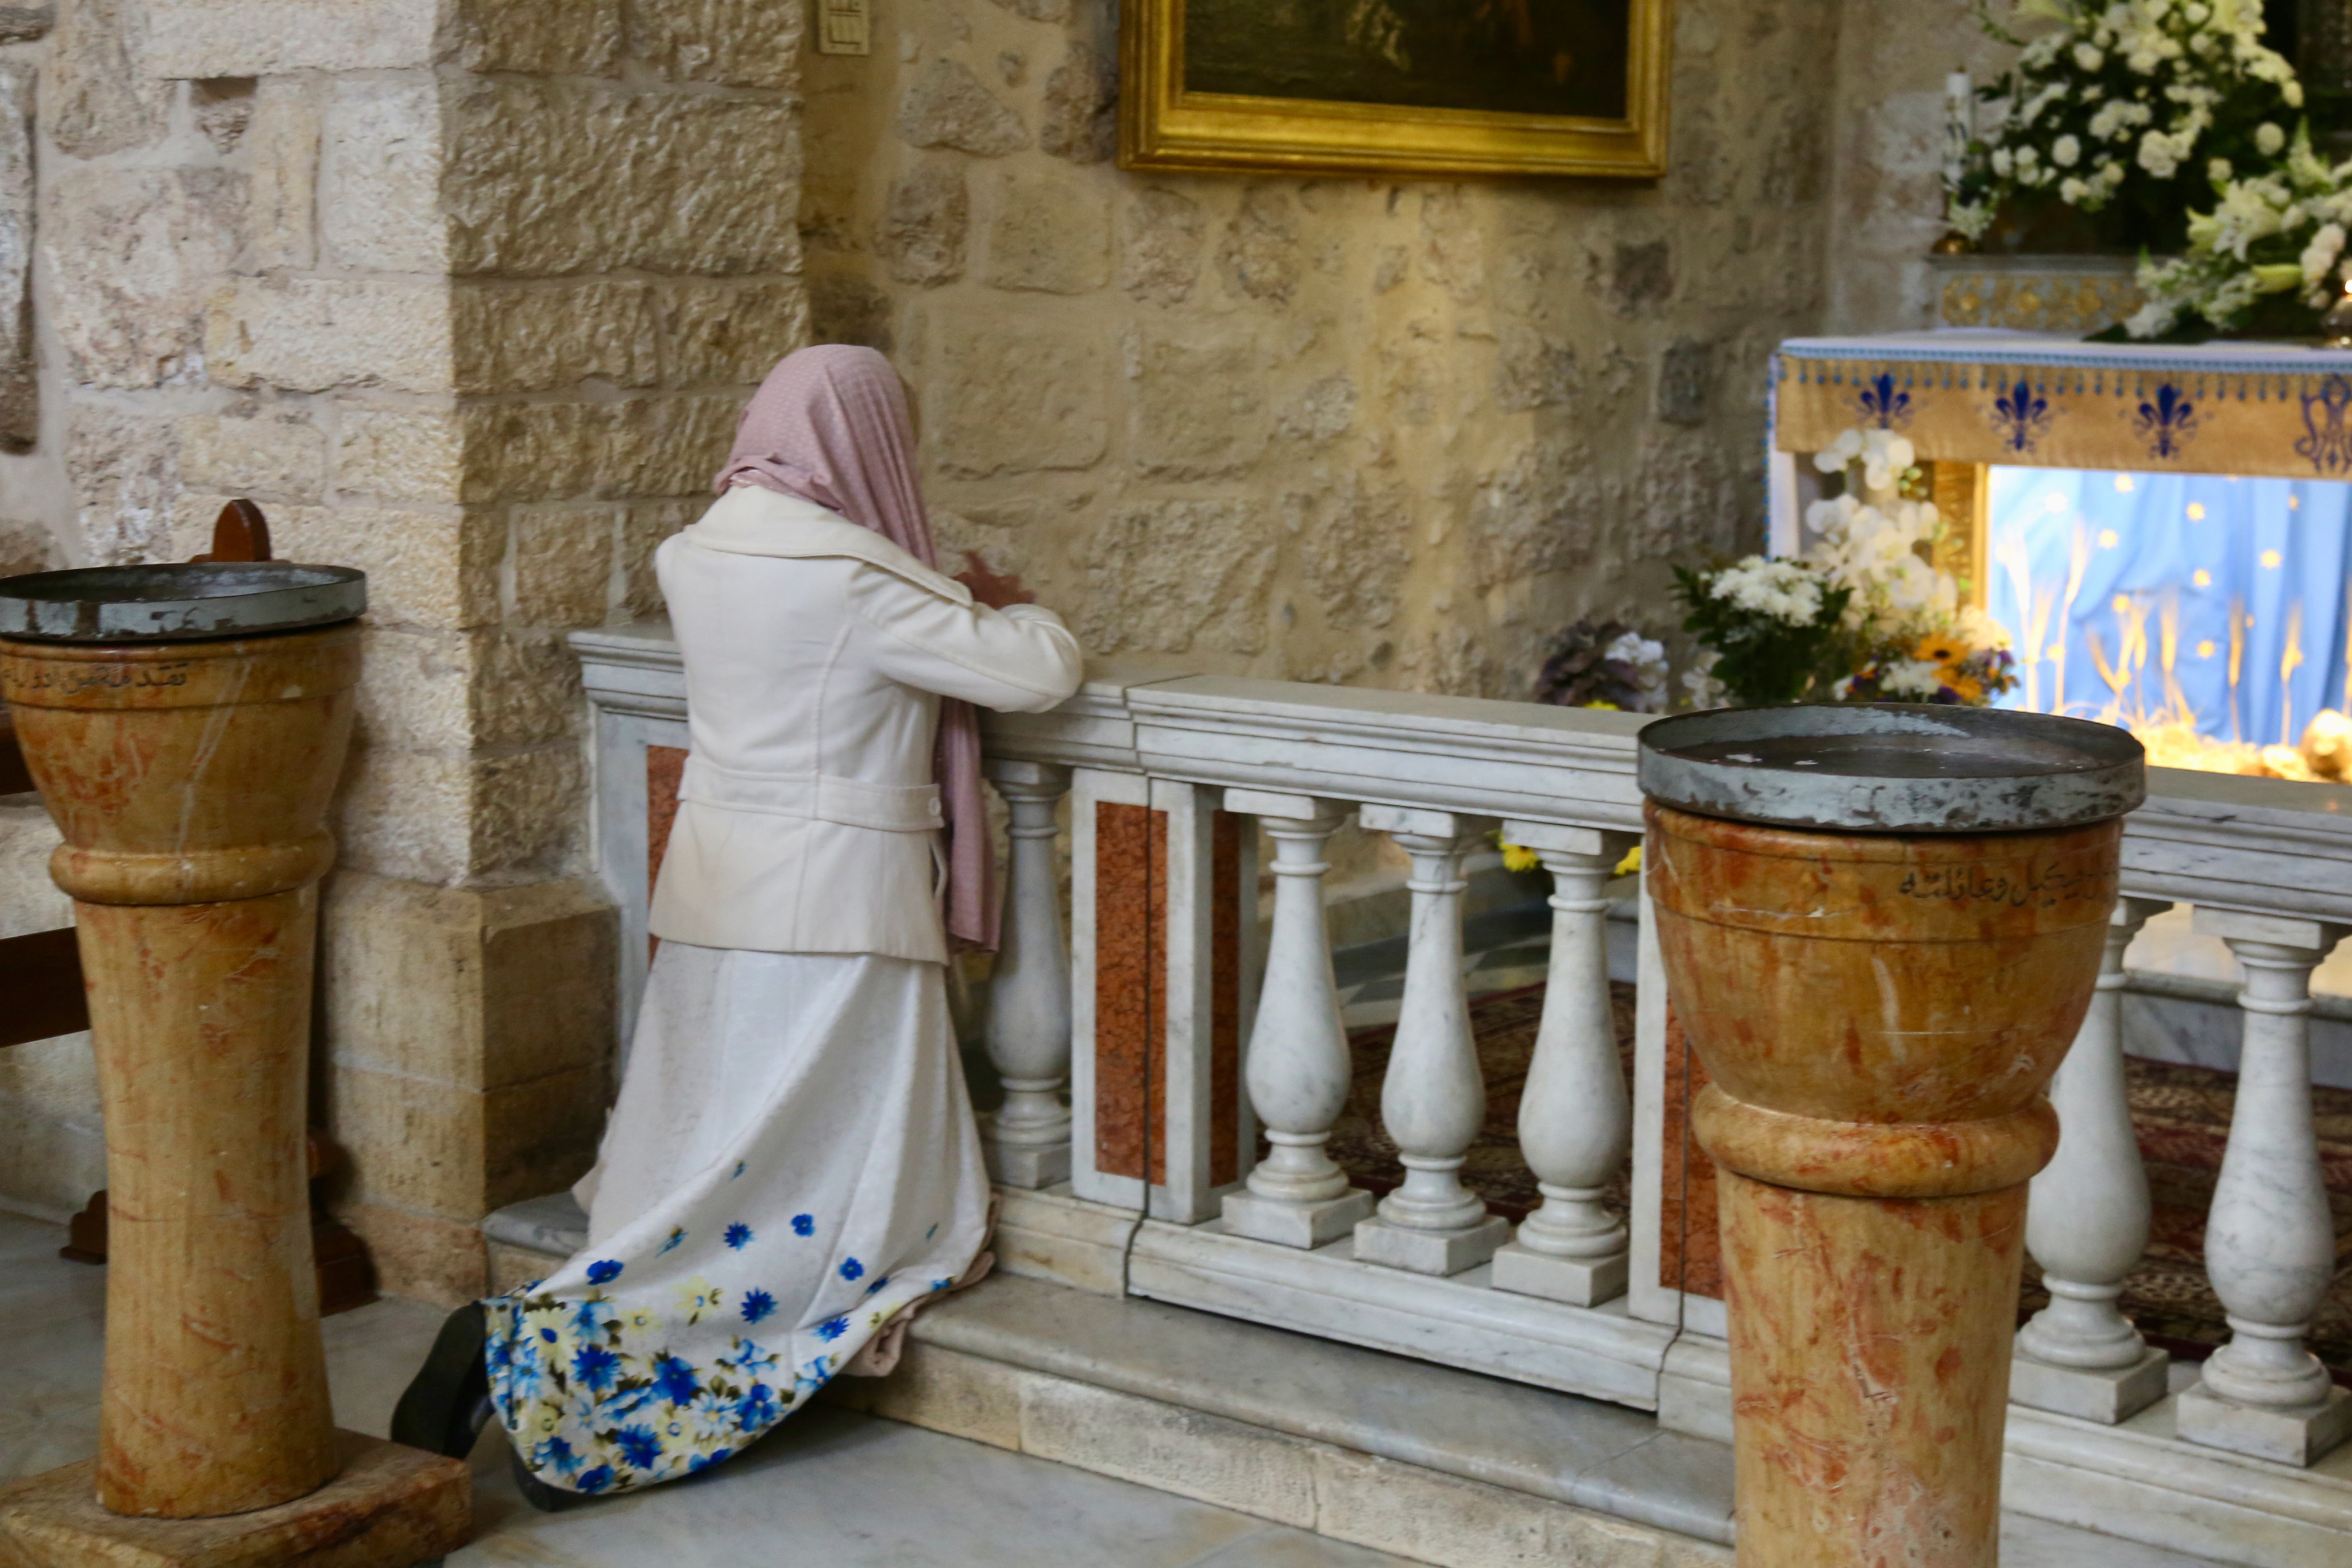
<path fill-rule="evenodd" d="M 541 1507 L 741 1450 L 988 1234 L 946 994 L 997 924 L 974 705 L 1061 703 L 1077 642 L 936 571 L 873 350 L 783 360 L 717 489 L 654 557 L 691 752 L 588 1248 L 452 1314 L 395 1415 L 463 1453 L 496 1413 Z"/>

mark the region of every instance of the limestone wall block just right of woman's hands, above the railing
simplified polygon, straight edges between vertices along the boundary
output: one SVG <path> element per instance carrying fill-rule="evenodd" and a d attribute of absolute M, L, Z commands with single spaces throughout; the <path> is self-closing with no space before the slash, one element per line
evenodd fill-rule
<path fill-rule="evenodd" d="M 1240 498 L 1117 508 L 1087 545 L 1089 649 L 1256 654 L 1265 646 L 1277 545 Z"/>

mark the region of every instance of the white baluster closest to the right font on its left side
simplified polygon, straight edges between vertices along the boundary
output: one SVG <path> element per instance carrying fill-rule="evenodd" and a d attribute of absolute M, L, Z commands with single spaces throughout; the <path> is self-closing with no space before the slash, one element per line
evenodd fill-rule
<path fill-rule="evenodd" d="M 1637 839 L 1552 823 L 1503 823 L 1503 839 L 1534 849 L 1552 872 L 1552 969 L 1519 1093 L 1519 1154 L 1543 1206 L 1494 1255 L 1494 1284 L 1597 1307 L 1625 1293 L 1625 1222 L 1602 1206 L 1602 1192 L 1632 1143 L 1602 886 Z"/>

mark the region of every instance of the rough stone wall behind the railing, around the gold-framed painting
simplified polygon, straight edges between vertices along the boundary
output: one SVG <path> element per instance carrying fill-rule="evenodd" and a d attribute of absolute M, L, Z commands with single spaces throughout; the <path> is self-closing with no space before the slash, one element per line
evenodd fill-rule
<path fill-rule="evenodd" d="M 816 331 L 1089 646 L 1524 696 L 1762 541 L 1764 357 L 1820 324 L 1837 7 L 1675 9 L 1663 181 L 1404 183 L 1122 174 L 1108 0 L 877 0 L 809 56 Z"/>

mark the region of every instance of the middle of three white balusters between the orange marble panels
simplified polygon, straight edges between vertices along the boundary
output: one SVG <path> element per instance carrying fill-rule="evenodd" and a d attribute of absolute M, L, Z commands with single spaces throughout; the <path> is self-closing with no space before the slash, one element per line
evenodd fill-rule
<path fill-rule="evenodd" d="M 1416 1274 L 1461 1274 L 1494 1258 L 1510 1225 L 1463 1187 L 1463 1154 L 1486 1121 L 1486 1081 L 1470 1037 L 1463 985 L 1463 853 L 1484 818 L 1364 806 L 1364 827 L 1388 832 L 1414 858 L 1411 945 L 1397 1039 L 1381 1081 L 1381 1124 L 1397 1143 L 1404 1185 L 1355 1227 L 1355 1255 Z"/>

